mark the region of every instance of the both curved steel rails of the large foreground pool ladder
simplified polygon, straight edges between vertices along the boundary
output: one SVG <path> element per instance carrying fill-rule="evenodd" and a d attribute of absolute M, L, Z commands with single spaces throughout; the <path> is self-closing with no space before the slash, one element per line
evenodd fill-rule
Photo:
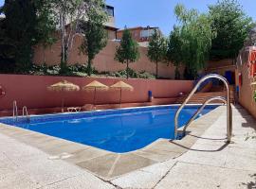
<path fill-rule="evenodd" d="M 185 105 L 189 102 L 189 100 L 192 98 L 192 95 L 197 91 L 197 89 L 199 88 L 199 86 L 207 79 L 209 78 L 218 78 L 221 81 L 224 82 L 225 86 L 226 86 L 226 90 L 227 90 L 227 96 L 226 98 L 222 97 L 222 96 L 215 96 L 215 97 L 211 97 L 209 99 L 207 99 L 204 104 L 200 107 L 200 109 L 195 112 L 192 116 L 192 118 L 189 120 L 189 122 L 183 126 L 183 130 L 182 130 L 182 135 L 185 135 L 186 133 L 186 129 L 191 125 L 192 121 L 196 118 L 196 116 L 202 112 L 204 110 L 204 108 L 206 107 L 207 104 L 209 104 L 211 101 L 213 100 L 220 100 L 223 103 L 226 104 L 227 106 L 227 137 L 228 137 L 228 143 L 231 142 L 231 136 L 232 136 L 232 109 L 231 109 L 231 105 L 230 105 L 230 89 L 229 89 L 229 82 L 225 77 L 222 77 L 220 75 L 217 74 L 210 74 L 207 75 L 205 77 L 202 77 L 197 84 L 194 86 L 194 88 L 192 89 L 191 94 L 188 95 L 188 97 L 185 99 L 185 101 L 180 105 L 179 109 L 177 110 L 177 112 L 175 113 L 175 117 L 174 117 L 174 139 L 177 139 L 177 132 L 178 132 L 178 116 L 179 113 L 182 111 L 182 109 L 185 107 Z"/>

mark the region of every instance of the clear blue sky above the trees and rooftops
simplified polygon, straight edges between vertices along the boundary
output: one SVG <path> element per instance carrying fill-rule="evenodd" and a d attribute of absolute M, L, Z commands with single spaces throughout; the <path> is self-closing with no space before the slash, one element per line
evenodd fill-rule
<path fill-rule="evenodd" d="M 172 30 L 176 19 L 174 7 L 182 3 L 189 9 L 198 9 L 205 12 L 208 5 L 217 0 L 106 0 L 106 3 L 115 7 L 116 25 L 124 26 L 159 26 L 165 35 Z M 256 0 L 239 0 L 247 15 L 256 21 Z M 0 0 L 0 6 L 4 0 Z"/>

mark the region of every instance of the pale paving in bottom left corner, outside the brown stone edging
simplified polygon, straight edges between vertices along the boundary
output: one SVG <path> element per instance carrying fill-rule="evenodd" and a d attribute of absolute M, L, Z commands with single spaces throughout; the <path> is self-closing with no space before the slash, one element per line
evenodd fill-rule
<path fill-rule="evenodd" d="M 49 160 L 48 154 L 26 144 L 18 143 L 13 138 L 0 133 L 2 145 L 0 153 L 0 188 L 41 188 L 52 184 L 71 186 L 74 180 L 81 180 L 89 185 L 101 186 L 101 188 L 113 188 L 113 185 L 98 179 L 90 173 L 85 172 L 80 167 L 66 163 L 62 160 Z M 15 145 L 13 145 L 15 144 Z M 10 147 L 11 146 L 11 147 Z M 18 152 L 18 153 L 17 153 Z M 83 176 L 82 176 L 83 175 Z M 78 177 L 78 179 L 75 179 Z M 69 180 L 73 178 L 72 180 Z M 57 185 L 58 185 L 57 184 Z M 53 187 L 54 185 L 52 185 Z M 76 185 L 73 185 L 75 188 Z M 81 185 L 77 185 L 77 188 Z M 86 185 L 85 185 L 86 186 Z M 59 188 L 64 188 L 63 186 Z M 68 187 L 66 187 L 68 188 Z M 91 187 L 92 188 L 92 187 Z"/>

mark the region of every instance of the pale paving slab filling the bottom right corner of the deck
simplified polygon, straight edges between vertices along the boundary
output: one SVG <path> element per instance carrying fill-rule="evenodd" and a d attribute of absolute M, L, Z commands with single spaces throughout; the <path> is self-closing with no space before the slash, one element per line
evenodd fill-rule
<path fill-rule="evenodd" d="M 255 181 L 253 171 L 226 169 L 222 167 L 194 163 L 176 163 L 172 171 L 161 180 L 155 189 L 183 188 L 248 188 Z"/>

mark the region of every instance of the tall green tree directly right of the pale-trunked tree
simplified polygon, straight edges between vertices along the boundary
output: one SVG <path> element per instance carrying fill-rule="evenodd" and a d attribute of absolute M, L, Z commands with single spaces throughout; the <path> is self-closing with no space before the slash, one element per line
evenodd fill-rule
<path fill-rule="evenodd" d="M 107 44 L 107 32 L 103 26 L 107 21 L 107 15 L 103 10 L 103 1 L 98 1 L 99 9 L 90 9 L 87 13 L 87 20 L 80 25 L 83 34 L 80 50 L 87 55 L 87 74 L 92 74 L 92 64 L 95 56 Z"/>

